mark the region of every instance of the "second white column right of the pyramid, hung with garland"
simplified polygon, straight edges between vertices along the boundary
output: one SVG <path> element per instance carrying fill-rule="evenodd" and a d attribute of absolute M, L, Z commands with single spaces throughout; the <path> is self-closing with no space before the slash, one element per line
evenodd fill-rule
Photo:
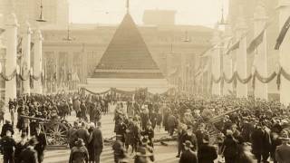
<path fill-rule="evenodd" d="M 247 24 L 242 14 L 240 6 L 240 17 L 237 22 L 237 39 L 240 40 L 239 49 L 237 50 L 237 73 L 241 79 L 247 78 Z M 247 98 L 247 83 L 242 83 L 237 80 L 237 98 Z"/>

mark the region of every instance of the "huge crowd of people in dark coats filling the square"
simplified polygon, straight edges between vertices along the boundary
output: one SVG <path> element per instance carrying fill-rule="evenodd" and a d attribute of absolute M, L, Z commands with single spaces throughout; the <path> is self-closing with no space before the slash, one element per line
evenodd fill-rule
<path fill-rule="evenodd" d="M 75 112 L 76 120 L 67 131 L 70 163 L 100 162 L 103 149 L 102 114 L 115 105 L 112 142 L 114 161 L 135 163 L 155 161 L 155 132 L 165 129 L 178 141 L 180 163 L 290 162 L 290 108 L 277 101 L 254 98 L 153 95 L 146 99 L 113 101 L 110 94 L 24 96 L 9 101 L 11 122 L 1 131 L 5 162 L 43 161 L 47 139 L 37 120 L 65 120 Z M 14 140 L 14 113 L 21 140 Z M 66 121 L 67 122 L 67 121 Z M 30 139 L 27 139 L 27 138 Z M 131 149 L 131 150 L 130 150 Z M 31 155 L 24 160 L 22 155 Z M 29 162 L 30 163 L 30 162 Z"/>

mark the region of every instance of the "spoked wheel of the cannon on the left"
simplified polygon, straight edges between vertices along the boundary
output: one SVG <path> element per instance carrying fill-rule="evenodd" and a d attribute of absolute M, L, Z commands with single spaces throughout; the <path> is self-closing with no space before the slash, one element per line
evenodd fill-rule
<path fill-rule="evenodd" d="M 65 145 L 67 127 L 63 123 L 53 123 L 45 126 L 48 145 Z"/>

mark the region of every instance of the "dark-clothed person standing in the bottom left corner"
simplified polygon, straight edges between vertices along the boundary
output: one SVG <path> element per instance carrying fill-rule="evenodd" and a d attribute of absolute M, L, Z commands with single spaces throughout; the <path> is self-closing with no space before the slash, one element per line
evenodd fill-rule
<path fill-rule="evenodd" d="M 14 147 L 16 142 L 12 138 L 11 130 L 6 130 L 5 136 L 0 139 L 0 146 L 3 150 L 4 163 L 14 163 Z"/>

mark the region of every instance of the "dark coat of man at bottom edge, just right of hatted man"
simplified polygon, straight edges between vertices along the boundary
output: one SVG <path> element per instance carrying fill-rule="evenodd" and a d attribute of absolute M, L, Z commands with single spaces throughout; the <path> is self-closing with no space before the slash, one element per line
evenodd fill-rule
<path fill-rule="evenodd" d="M 208 144 L 202 144 L 198 148 L 198 163 L 214 163 L 218 158 L 217 149 Z"/>

